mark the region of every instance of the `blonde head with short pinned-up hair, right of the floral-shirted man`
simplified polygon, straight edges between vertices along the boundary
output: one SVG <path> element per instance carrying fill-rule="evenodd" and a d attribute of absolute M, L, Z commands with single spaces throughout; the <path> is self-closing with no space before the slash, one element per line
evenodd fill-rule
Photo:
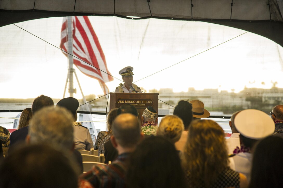
<path fill-rule="evenodd" d="M 165 137 L 173 144 L 177 142 L 184 131 L 183 121 L 175 115 L 167 115 L 162 118 L 157 129 L 157 135 Z"/>

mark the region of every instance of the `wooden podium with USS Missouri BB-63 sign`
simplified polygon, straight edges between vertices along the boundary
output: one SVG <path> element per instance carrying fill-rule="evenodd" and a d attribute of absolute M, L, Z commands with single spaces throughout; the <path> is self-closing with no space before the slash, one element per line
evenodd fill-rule
<path fill-rule="evenodd" d="M 148 106 L 152 106 L 158 113 L 158 93 L 110 93 L 109 110 L 123 104 L 136 107 L 141 120 L 141 115 Z"/>

